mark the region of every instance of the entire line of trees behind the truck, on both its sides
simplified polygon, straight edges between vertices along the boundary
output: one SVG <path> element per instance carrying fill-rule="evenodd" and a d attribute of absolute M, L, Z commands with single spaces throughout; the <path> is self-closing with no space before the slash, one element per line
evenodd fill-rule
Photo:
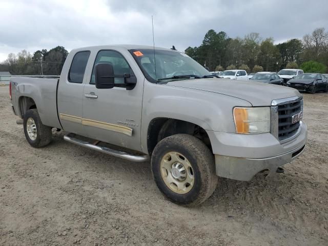
<path fill-rule="evenodd" d="M 315 29 L 302 40 L 293 38 L 277 45 L 272 37 L 263 39 L 259 33 L 231 38 L 226 32 L 211 29 L 200 46 L 188 47 L 185 52 L 211 71 L 238 68 L 250 73 L 300 67 L 304 72 L 328 72 L 328 33 L 324 28 Z M 10 53 L 0 63 L 0 71 L 15 75 L 59 75 L 67 55 L 63 46 L 37 50 L 33 55 L 22 50 Z"/>

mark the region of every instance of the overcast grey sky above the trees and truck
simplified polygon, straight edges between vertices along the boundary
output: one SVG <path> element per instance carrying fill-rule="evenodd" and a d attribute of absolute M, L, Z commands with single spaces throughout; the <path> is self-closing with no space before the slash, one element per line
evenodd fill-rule
<path fill-rule="evenodd" d="M 199 46 L 209 29 L 258 32 L 275 42 L 328 30 L 327 0 L 0 0 L 0 61 L 8 53 L 64 46 Z"/>

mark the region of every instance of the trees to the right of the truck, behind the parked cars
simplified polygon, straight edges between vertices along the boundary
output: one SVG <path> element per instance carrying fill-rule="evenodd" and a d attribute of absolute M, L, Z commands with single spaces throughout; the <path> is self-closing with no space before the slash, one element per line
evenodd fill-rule
<path fill-rule="evenodd" d="M 250 73 L 300 67 L 304 72 L 328 72 L 328 33 L 324 28 L 302 40 L 293 38 L 277 45 L 272 37 L 263 39 L 259 33 L 231 38 L 211 29 L 200 46 L 188 47 L 185 52 L 211 71 L 243 69 Z"/>

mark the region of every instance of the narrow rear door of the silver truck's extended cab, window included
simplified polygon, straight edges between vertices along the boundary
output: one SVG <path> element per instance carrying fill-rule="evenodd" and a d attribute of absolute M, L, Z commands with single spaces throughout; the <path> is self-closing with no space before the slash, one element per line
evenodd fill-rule
<path fill-rule="evenodd" d="M 71 66 L 61 72 L 57 91 L 60 124 L 65 131 L 83 134 L 83 81 L 90 51 L 79 51 L 72 58 Z M 69 61 L 68 61 L 69 62 Z M 66 75 L 68 74 L 68 76 Z M 66 76 L 65 76 L 66 75 Z"/>

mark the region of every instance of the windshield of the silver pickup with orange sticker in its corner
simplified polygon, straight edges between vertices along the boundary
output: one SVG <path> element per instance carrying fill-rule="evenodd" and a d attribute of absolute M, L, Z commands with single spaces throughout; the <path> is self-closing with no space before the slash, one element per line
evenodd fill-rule
<path fill-rule="evenodd" d="M 181 75 L 196 75 L 194 77 L 172 78 L 172 80 L 189 79 L 211 75 L 211 73 L 203 68 L 197 61 L 190 58 L 185 53 L 169 50 L 153 50 L 153 49 L 138 49 L 130 50 L 131 54 L 136 59 L 139 67 L 144 72 L 148 80 L 156 83 L 157 80 L 165 80 Z M 155 52 L 155 59 L 154 59 Z M 155 75 L 156 64 L 156 75 Z"/>

